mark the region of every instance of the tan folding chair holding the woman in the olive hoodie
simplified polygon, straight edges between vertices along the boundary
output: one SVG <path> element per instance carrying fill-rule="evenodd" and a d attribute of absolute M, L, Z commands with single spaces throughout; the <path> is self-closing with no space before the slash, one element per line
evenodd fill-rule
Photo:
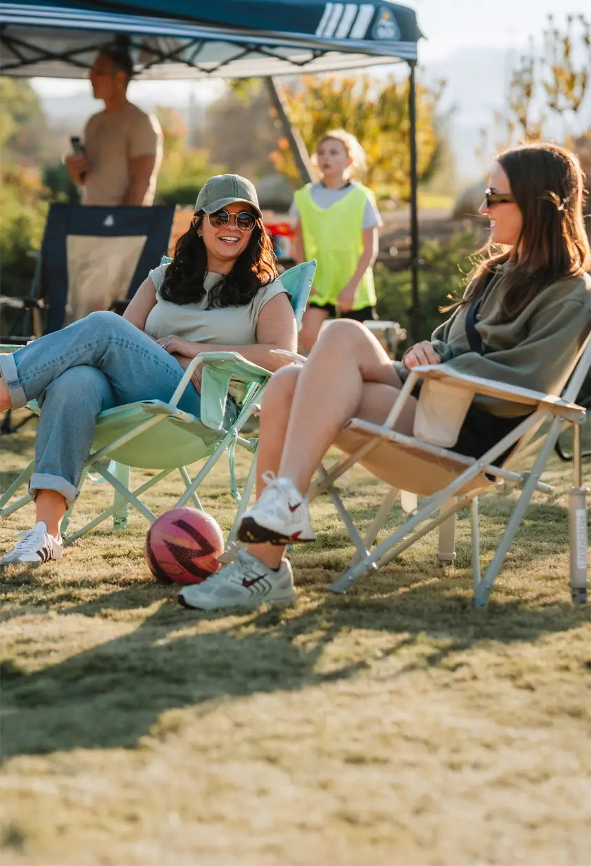
<path fill-rule="evenodd" d="M 489 379 L 467 376 L 447 365 L 415 367 L 401 389 L 388 418 L 382 425 L 352 418 L 344 425 L 336 444 L 348 455 L 331 469 L 321 466 L 318 480 L 312 483 L 309 499 L 326 492 L 344 520 L 357 553 L 349 567 L 331 586 L 332 591 L 346 591 L 357 578 L 376 571 L 414 544 L 423 535 L 440 527 L 440 562 L 455 558 L 453 534 L 455 514 L 459 508 L 471 507 L 472 517 L 472 572 L 474 590 L 472 605 L 485 607 L 492 585 L 503 565 L 517 533 L 534 490 L 552 493 L 553 488 L 541 481 L 549 456 L 565 423 L 573 426 L 575 459 L 574 483 L 569 490 L 569 550 L 570 586 L 573 601 L 587 601 L 587 520 L 586 494 L 581 478 L 581 424 L 586 418 L 584 407 L 575 404 L 576 395 L 591 367 L 591 339 L 579 352 L 574 368 L 564 377 L 569 385 L 562 397 L 543 394 L 529 389 L 512 387 Z M 394 430 L 401 410 L 414 386 L 423 379 L 421 394 L 414 418 L 413 436 L 404 436 Z M 564 385 L 564 382 L 562 385 Z M 475 459 L 453 450 L 474 394 L 500 397 L 517 404 L 532 407 L 531 414 L 504 436 L 482 457 Z M 544 422 L 549 427 L 543 434 L 533 436 Z M 502 456 L 510 451 L 508 459 Z M 528 472 L 513 469 L 526 455 L 538 451 L 532 469 Z M 362 536 L 357 532 L 350 514 L 337 494 L 334 482 L 354 463 L 368 469 L 390 489 L 371 526 Z M 522 492 L 504 529 L 497 551 L 485 575 L 480 573 L 479 505 L 478 497 L 485 489 L 504 482 L 516 484 Z M 390 533 L 388 538 L 374 546 L 377 534 L 389 516 L 390 509 L 400 491 L 424 496 L 420 504 L 410 503 L 408 519 Z M 408 494 L 406 495 L 408 498 Z M 404 501 L 403 501 L 404 507 Z"/>

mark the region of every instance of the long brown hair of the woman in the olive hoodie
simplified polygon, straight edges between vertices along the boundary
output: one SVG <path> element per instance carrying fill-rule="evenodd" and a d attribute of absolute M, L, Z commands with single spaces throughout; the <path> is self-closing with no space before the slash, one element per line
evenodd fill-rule
<path fill-rule="evenodd" d="M 510 251 L 485 248 L 464 298 L 453 306 L 478 298 L 498 265 L 509 262 L 500 321 L 511 321 L 543 288 L 591 268 L 591 248 L 583 222 L 583 174 L 574 153 L 537 141 L 499 154 L 497 162 L 521 210 L 522 229 Z"/>

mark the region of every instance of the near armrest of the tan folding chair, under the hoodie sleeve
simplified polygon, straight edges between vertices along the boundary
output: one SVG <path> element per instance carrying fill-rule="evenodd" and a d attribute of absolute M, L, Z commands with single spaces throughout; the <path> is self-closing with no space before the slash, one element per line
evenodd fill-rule
<path fill-rule="evenodd" d="M 585 418 L 585 409 L 575 403 L 569 403 L 556 394 L 544 394 L 543 391 L 532 391 L 518 385 L 507 385 L 494 379 L 469 376 L 456 370 L 446 369 L 445 364 L 432 364 L 413 367 L 412 372 L 420 378 L 445 379 L 448 385 L 457 385 L 472 393 L 485 394 L 487 397 L 500 397 L 511 403 L 543 406 L 553 415 L 567 418 L 569 421 L 581 423 Z"/>

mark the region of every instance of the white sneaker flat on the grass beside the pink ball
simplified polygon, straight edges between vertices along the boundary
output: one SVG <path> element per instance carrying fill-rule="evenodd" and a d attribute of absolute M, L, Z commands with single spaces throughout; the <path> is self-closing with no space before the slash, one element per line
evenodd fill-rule
<path fill-rule="evenodd" d="M 199 611 L 217 611 L 223 607 L 258 607 L 264 601 L 291 604 L 295 598 L 292 566 L 281 560 L 279 571 L 273 571 L 260 559 L 240 550 L 234 562 L 212 574 L 200 584 L 183 586 L 178 603 Z"/>

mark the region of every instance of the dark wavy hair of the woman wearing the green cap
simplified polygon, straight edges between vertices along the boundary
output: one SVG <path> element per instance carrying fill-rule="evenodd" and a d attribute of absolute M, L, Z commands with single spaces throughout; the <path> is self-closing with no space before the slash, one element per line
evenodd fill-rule
<path fill-rule="evenodd" d="M 197 229 L 203 222 L 203 212 L 191 223 L 189 231 L 181 235 L 175 246 L 160 294 L 173 304 L 196 304 L 205 296 L 203 281 L 207 272 L 207 249 Z M 277 257 L 267 229 L 257 219 L 247 248 L 234 262 L 234 267 L 215 283 L 209 291 L 208 309 L 213 307 L 244 307 L 254 295 L 273 282 L 279 275 Z"/>

